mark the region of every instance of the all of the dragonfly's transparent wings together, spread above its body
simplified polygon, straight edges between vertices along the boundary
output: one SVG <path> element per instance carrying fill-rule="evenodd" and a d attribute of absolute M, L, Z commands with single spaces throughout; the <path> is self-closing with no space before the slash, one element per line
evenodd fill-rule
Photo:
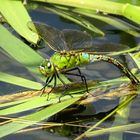
<path fill-rule="evenodd" d="M 33 29 L 34 26 L 36 29 Z M 95 42 L 91 35 L 79 30 L 64 29 L 63 31 L 60 31 L 39 22 L 29 22 L 28 27 L 34 32 L 38 32 L 41 39 L 43 39 L 54 51 L 75 50 L 75 52 L 83 51 L 106 54 L 128 49 L 128 46 L 121 44 L 106 43 L 103 41 Z"/>

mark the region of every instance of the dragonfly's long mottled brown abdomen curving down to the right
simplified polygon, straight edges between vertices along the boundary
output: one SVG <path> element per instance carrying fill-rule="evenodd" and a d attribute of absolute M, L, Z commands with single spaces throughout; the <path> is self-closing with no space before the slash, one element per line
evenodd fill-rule
<path fill-rule="evenodd" d="M 106 55 L 90 55 L 90 62 L 97 61 L 106 61 L 118 67 L 130 80 L 133 84 L 139 84 L 139 80 L 131 73 L 128 68 L 126 68 L 123 64 L 121 64 L 118 60 L 106 56 Z"/>

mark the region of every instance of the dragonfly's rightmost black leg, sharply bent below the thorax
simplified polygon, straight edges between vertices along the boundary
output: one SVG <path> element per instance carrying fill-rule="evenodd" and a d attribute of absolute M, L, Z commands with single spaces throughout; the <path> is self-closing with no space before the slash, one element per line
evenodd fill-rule
<path fill-rule="evenodd" d="M 74 74 L 74 73 L 68 73 L 70 71 L 73 71 L 73 70 L 77 70 L 79 74 Z M 88 85 L 87 85 L 87 80 L 86 80 L 86 77 L 81 73 L 80 69 L 78 67 L 74 67 L 74 68 L 71 68 L 71 69 L 68 69 L 64 72 L 64 74 L 67 74 L 67 75 L 74 75 L 74 76 L 79 76 L 81 77 L 81 80 L 82 82 L 84 82 L 85 86 L 86 86 L 86 91 L 88 91 Z"/>

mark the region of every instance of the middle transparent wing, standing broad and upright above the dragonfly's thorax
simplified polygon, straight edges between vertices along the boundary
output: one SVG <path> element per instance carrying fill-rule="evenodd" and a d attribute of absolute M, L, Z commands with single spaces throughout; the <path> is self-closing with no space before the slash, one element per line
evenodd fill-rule
<path fill-rule="evenodd" d="M 92 44 L 92 37 L 86 32 L 64 29 L 62 33 L 68 50 L 83 50 Z"/>

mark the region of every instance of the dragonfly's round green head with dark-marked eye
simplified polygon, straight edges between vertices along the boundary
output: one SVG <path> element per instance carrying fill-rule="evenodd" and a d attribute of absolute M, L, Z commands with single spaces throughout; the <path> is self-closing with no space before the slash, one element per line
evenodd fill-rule
<path fill-rule="evenodd" d="M 50 62 L 50 60 L 45 59 L 39 66 L 39 71 L 44 76 L 50 76 L 54 73 L 54 65 Z"/>

